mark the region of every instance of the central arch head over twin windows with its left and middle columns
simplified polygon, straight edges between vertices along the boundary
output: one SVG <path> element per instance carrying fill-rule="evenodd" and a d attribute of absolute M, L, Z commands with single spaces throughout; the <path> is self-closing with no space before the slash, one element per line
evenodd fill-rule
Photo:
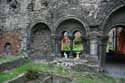
<path fill-rule="evenodd" d="M 66 19 L 60 19 L 59 22 L 56 23 L 56 28 L 55 28 L 55 34 L 56 34 L 56 49 L 60 49 L 60 40 L 62 39 L 62 32 L 67 31 L 69 32 L 69 38 L 70 38 L 70 49 L 71 49 L 71 53 L 68 53 L 71 55 L 73 55 L 72 51 L 73 51 L 73 33 L 74 31 L 80 31 L 80 33 L 82 34 L 82 37 L 84 36 L 87 37 L 87 34 L 89 32 L 89 28 L 88 26 L 83 23 L 80 19 L 78 18 L 74 18 L 74 17 L 70 17 L 70 18 L 66 18 Z M 58 52 L 57 52 L 58 51 Z M 61 52 L 60 50 L 57 50 L 56 54 Z"/>

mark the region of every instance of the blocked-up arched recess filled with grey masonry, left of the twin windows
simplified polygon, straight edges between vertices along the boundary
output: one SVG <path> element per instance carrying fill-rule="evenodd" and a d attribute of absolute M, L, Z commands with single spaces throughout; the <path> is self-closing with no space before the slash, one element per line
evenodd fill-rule
<path fill-rule="evenodd" d="M 49 55 L 51 52 L 51 31 L 44 23 L 37 23 L 31 29 L 31 55 Z"/>

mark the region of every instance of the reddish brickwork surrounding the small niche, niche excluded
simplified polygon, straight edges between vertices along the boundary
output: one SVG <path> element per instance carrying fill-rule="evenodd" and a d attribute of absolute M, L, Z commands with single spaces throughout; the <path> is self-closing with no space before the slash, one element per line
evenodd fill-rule
<path fill-rule="evenodd" d="M 19 33 L 5 32 L 0 35 L 0 56 L 4 55 L 4 46 L 11 44 L 12 55 L 16 55 L 19 50 Z"/>

